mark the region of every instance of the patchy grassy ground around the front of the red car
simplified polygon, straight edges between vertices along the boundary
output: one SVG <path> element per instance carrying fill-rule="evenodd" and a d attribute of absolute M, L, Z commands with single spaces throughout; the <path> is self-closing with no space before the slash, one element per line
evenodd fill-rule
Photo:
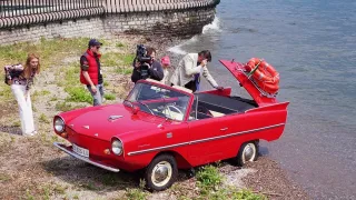
<path fill-rule="evenodd" d="M 40 40 L 0 48 L 0 66 L 22 62 L 28 52 L 40 56 L 41 73 L 34 80 L 31 98 L 39 134 L 19 134 L 17 102 L 10 87 L 0 83 L 0 199 L 266 199 L 248 190 L 225 184 L 219 168 L 207 166 L 196 178 L 180 173 L 167 191 L 149 193 L 132 173 L 110 173 L 59 152 L 53 141 L 55 114 L 90 107 L 92 99 L 79 82 L 79 58 L 88 38 Z M 132 87 L 129 79 L 138 39 L 101 40 L 105 103 L 120 101 Z M 3 70 L 0 73 L 3 77 Z M 12 114 L 10 114 L 12 113 Z"/>

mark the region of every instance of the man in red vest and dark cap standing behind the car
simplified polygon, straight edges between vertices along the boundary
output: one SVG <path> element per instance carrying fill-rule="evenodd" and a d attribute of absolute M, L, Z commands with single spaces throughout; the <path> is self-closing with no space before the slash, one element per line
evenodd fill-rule
<path fill-rule="evenodd" d="M 99 49 L 102 46 L 96 39 L 91 39 L 88 50 L 80 57 L 80 82 L 86 84 L 92 96 L 92 104 L 100 106 L 103 100 L 103 80 L 100 69 Z"/>

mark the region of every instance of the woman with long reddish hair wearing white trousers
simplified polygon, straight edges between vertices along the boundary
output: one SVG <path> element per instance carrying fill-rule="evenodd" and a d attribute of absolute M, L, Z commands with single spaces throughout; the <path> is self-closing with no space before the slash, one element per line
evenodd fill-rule
<path fill-rule="evenodd" d="M 33 78 L 40 72 L 39 57 L 34 53 L 28 54 L 24 67 L 21 64 L 7 66 L 7 80 L 11 84 L 12 93 L 18 101 L 21 129 L 23 136 L 34 136 L 37 133 L 33 122 L 30 88 Z"/>

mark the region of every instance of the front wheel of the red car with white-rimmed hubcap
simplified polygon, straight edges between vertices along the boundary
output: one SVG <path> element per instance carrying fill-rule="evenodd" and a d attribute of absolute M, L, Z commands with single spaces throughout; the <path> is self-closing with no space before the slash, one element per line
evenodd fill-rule
<path fill-rule="evenodd" d="M 160 154 L 146 169 L 145 179 L 149 190 L 161 191 L 171 187 L 177 176 L 176 159 L 170 154 Z"/>

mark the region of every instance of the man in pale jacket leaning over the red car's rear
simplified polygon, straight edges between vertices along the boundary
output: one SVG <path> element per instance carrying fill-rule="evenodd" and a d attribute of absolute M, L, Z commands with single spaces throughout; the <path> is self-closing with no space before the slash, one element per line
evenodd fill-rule
<path fill-rule="evenodd" d="M 192 92 L 199 90 L 200 74 L 216 89 L 222 90 L 214 80 L 208 70 L 208 62 L 211 61 L 209 50 L 200 51 L 199 53 L 188 53 L 180 61 L 174 71 L 170 82 L 176 86 L 181 86 L 190 89 Z"/>

